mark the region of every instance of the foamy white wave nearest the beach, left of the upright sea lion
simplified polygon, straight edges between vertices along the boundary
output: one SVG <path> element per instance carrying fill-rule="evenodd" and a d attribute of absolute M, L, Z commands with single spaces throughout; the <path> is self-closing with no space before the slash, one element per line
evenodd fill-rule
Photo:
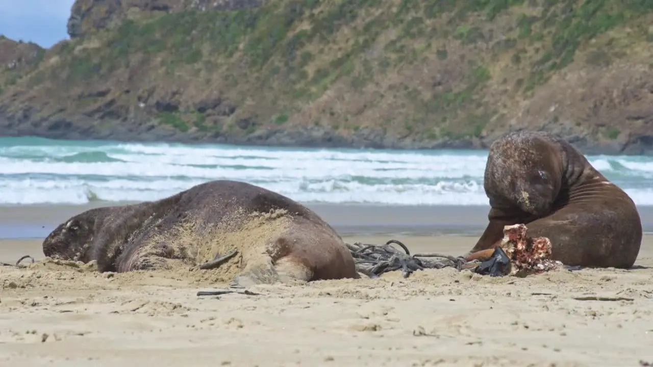
<path fill-rule="evenodd" d="M 141 201 L 174 195 L 202 180 L 4 180 L 0 204 L 84 204 L 91 200 Z M 252 182 L 301 202 L 367 202 L 375 204 L 483 204 L 477 182 L 439 182 L 367 185 L 338 180 L 274 180 Z"/>

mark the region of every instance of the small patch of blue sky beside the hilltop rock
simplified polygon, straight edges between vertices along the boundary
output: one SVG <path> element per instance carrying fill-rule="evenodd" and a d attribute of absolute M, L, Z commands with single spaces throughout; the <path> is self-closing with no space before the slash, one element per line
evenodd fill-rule
<path fill-rule="evenodd" d="M 0 35 L 50 47 L 67 39 L 74 0 L 0 0 Z"/>

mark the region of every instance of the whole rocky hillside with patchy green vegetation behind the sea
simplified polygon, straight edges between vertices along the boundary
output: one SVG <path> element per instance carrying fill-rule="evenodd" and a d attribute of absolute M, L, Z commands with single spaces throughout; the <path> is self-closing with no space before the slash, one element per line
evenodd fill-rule
<path fill-rule="evenodd" d="M 2 135 L 481 148 L 545 129 L 588 153 L 653 152 L 646 0 L 78 0 L 71 13 L 71 40 L 31 59 L 0 48 Z"/>

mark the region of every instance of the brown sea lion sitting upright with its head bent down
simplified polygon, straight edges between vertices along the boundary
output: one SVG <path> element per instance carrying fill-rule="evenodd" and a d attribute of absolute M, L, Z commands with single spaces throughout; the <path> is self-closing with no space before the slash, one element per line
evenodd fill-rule
<path fill-rule="evenodd" d="M 635 203 L 558 136 L 520 131 L 496 140 L 485 193 L 490 223 L 471 253 L 496 247 L 505 225 L 523 223 L 528 236 L 548 237 L 552 259 L 566 265 L 630 268 L 637 259 Z"/>

